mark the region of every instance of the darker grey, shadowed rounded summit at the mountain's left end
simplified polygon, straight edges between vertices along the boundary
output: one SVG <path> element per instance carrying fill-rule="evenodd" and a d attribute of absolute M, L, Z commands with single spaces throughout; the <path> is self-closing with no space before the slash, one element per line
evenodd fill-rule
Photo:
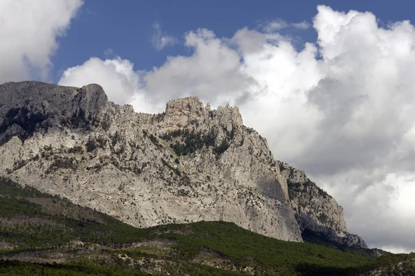
<path fill-rule="evenodd" d="M 75 88 L 39 81 L 4 83 L 0 99 L 0 146 L 14 136 L 24 141 L 53 126 L 78 127 L 97 117 L 108 103 L 98 84 Z"/>

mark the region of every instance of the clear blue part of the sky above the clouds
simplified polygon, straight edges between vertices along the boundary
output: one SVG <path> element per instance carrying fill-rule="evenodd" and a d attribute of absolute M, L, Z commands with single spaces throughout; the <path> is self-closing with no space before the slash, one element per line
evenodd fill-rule
<path fill-rule="evenodd" d="M 259 28 L 259 23 L 282 19 L 287 22 L 312 23 L 317 5 L 347 12 L 369 10 L 383 23 L 411 20 L 415 17 L 413 1 L 100 1 L 86 0 L 77 17 L 71 22 L 66 37 L 59 39 L 59 50 L 53 56 L 57 82 L 62 72 L 90 57 L 101 59 L 111 48 L 113 54 L 132 61 L 136 70 L 161 66 L 168 55 L 188 55 L 183 47 L 183 35 L 197 28 L 213 30 L 217 37 L 232 37 L 243 27 Z M 163 50 L 151 45 L 154 23 L 160 23 L 163 32 L 178 38 L 178 43 Z M 315 42 L 313 28 L 283 32 L 303 41 Z M 299 44 L 300 46 L 302 43 Z"/>

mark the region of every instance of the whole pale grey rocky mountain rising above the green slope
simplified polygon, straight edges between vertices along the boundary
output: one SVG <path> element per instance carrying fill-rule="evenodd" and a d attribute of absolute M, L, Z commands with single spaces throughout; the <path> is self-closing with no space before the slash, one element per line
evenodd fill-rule
<path fill-rule="evenodd" d="M 109 102 L 96 84 L 37 81 L 4 83 L 0 98 L 0 176 L 24 186 L 138 228 L 229 221 L 284 241 L 311 233 L 366 246 L 335 200 L 276 161 L 237 107 L 188 97 L 149 115 Z"/>

